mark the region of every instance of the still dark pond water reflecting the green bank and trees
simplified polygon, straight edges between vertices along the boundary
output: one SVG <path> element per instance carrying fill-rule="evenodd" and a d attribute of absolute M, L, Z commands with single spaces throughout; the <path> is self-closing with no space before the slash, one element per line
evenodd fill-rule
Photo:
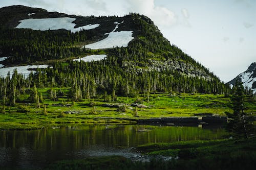
<path fill-rule="evenodd" d="M 0 131 L 1 167 L 39 168 L 63 159 L 88 156 L 138 156 L 131 148 L 145 143 L 221 139 L 224 129 L 147 125 L 64 126 Z"/>

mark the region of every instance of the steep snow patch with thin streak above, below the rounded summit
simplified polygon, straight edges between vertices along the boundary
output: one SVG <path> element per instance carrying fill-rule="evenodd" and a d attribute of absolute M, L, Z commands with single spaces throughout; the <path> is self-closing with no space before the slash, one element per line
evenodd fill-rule
<path fill-rule="evenodd" d="M 116 46 L 124 46 L 126 47 L 128 45 L 128 43 L 134 39 L 133 35 L 133 31 L 119 31 L 119 32 L 115 32 L 116 29 L 118 29 L 118 25 L 120 23 L 118 22 L 114 22 L 116 24 L 115 29 L 110 32 L 110 33 L 105 33 L 105 35 L 109 35 L 108 37 L 106 37 L 103 40 L 100 40 L 98 42 L 92 43 L 92 44 L 88 44 L 85 45 L 84 47 L 86 48 L 91 48 L 93 50 L 96 49 L 102 49 L 102 48 L 113 48 Z M 123 23 L 123 21 L 121 22 Z"/>

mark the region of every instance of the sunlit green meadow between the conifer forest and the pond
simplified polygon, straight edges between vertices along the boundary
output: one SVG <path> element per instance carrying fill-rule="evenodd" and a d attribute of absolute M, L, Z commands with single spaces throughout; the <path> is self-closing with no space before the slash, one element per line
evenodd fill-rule
<path fill-rule="evenodd" d="M 38 89 L 44 99 L 40 108 L 30 103 L 28 94 L 20 94 L 15 106 L 0 106 L 0 129 L 37 129 L 59 124 L 127 124 L 134 122 L 118 118 L 194 116 L 197 113 L 225 116 L 225 112 L 232 112 L 230 98 L 224 95 L 157 93 L 150 94 L 147 98 L 144 94 L 138 94 L 129 97 L 117 96 L 113 101 L 111 96 L 102 94 L 94 99 L 73 102 L 68 99 L 69 89 L 54 88 L 54 100 L 49 96 L 50 88 Z M 137 108 L 135 114 L 132 103 L 145 107 Z M 103 106 L 104 104 L 114 107 Z M 125 105 L 125 108 L 120 105 Z M 256 115 L 256 101 L 248 96 L 245 111 Z"/>

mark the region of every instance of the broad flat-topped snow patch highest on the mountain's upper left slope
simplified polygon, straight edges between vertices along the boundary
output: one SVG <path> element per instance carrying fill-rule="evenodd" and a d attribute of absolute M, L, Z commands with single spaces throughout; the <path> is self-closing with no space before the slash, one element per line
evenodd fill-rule
<path fill-rule="evenodd" d="M 83 27 L 74 28 L 76 25 L 72 23 L 76 18 L 62 17 L 62 18 L 42 18 L 42 19 L 23 19 L 20 20 L 17 29 L 32 29 L 32 30 L 59 30 L 66 29 L 72 33 L 80 30 L 91 30 L 99 27 L 99 24 L 87 25 Z"/>

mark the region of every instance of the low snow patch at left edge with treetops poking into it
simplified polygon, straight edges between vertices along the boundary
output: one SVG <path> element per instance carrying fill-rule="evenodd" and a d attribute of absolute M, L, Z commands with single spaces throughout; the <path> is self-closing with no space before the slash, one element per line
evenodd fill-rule
<path fill-rule="evenodd" d="M 31 68 L 47 68 L 48 65 L 26 65 L 26 66 L 14 66 L 14 67 L 6 67 L 0 68 L 0 77 L 7 77 L 8 72 L 10 71 L 10 76 L 12 77 L 13 70 L 16 68 L 18 74 L 23 74 L 25 78 L 27 78 L 31 72 Z M 33 71 L 35 72 L 35 71 Z"/>

